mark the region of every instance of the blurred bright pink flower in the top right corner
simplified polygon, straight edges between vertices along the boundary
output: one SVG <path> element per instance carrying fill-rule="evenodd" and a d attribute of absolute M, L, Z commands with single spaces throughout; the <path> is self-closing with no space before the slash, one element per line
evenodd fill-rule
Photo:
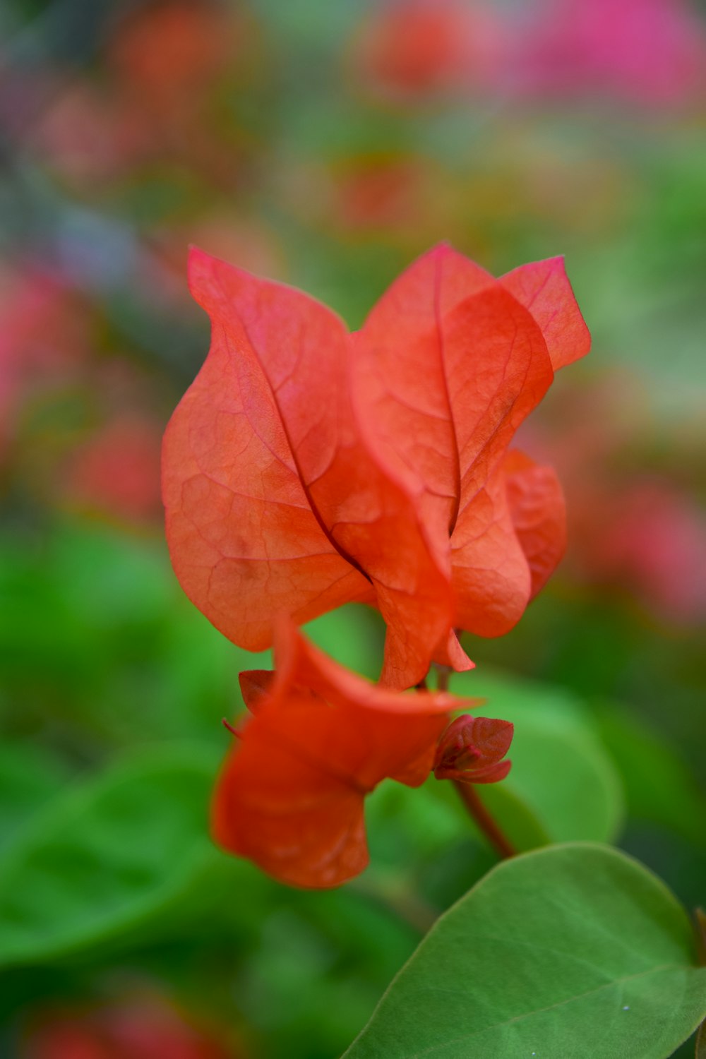
<path fill-rule="evenodd" d="M 706 33 L 684 0 L 548 0 L 517 34 L 518 92 L 674 104 L 703 85 Z"/>

